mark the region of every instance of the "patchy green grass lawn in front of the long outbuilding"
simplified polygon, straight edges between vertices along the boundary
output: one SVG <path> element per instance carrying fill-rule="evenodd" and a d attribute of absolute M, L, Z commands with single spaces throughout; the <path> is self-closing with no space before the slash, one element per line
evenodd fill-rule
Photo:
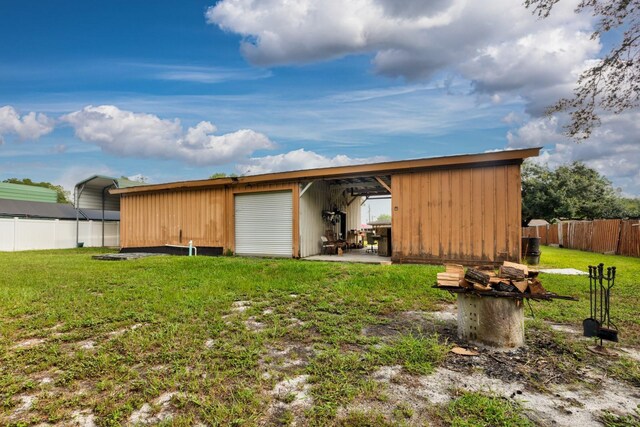
<path fill-rule="evenodd" d="M 394 313 L 455 301 L 431 288 L 438 266 L 91 259 L 100 252 L 0 253 L 0 425 L 66 425 L 89 411 L 97 425 L 127 424 L 148 402 L 147 412 L 162 414 L 158 397 L 168 392 L 175 393 L 167 398 L 172 418 L 155 419 L 160 424 L 286 425 L 291 410 L 273 402 L 303 407 L 308 395 L 306 422 L 326 425 L 338 422 L 349 402 L 384 396 L 369 378 L 378 367 L 426 374 L 447 352 L 433 335 L 389 341 L 362 333 Z M 636 345 L 640 260 L 543 248 L 548 267 L 584 270 L 598 262 L 618 267 L 612 314 L 622 339 Z M 588 279 L 542 281 L 581 300 L 534 303 L 537 317 L 577 325 L 588 315 Z M 282 361 L 286 352 L 290 366 Z M 308 382 L 304 393 L 270 392 L 300 376 Z M 28 410 L 21 409 L 24 396 L 35 396 Z M 401 424 L 407 410 L 396 409 L 394 423 Z"/>

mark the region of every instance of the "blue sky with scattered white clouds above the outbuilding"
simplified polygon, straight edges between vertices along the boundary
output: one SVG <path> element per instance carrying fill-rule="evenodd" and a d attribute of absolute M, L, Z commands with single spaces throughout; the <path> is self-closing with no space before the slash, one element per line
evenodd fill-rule
<path fill-rule="evenodd" d="M 541 114 L 599 55 L 591 20 L 502 3 L 2 2 L 0 179 L 166 182 L 545 146 L 543 161 L 587 161 L 634 193 L 604 132 L 574 147 Z M 634 135 L 633 122 L 611 126 Z"/>

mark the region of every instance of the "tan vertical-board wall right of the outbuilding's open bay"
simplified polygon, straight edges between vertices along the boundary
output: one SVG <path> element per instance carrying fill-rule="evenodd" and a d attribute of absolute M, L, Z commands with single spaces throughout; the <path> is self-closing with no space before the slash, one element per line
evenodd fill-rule
<path fill-rule="evenodd" d="M 519 261 L 520 165 L 395 174 L 397 262 Z"/>

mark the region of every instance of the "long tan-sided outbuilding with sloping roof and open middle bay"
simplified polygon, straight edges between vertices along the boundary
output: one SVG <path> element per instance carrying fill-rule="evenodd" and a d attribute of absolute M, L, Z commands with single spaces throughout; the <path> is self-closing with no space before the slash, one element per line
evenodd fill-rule
<path fill-rule="evenodd" d="M 391 196 L 394 262 L 520 260 L 523 159 L 540 148 L 113 188 L 124 250 L 307 257 L 347 242 L 367 197 Z"/>

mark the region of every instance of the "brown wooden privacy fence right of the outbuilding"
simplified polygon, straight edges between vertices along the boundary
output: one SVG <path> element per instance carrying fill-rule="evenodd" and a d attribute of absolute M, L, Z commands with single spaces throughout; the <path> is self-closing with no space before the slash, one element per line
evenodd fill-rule
<path fill-rule="evenodd" d="M 561 221 L 524 227 L 522 237 L 540 237 L 543 245 L 640 257 L 640 220 Z"/>

